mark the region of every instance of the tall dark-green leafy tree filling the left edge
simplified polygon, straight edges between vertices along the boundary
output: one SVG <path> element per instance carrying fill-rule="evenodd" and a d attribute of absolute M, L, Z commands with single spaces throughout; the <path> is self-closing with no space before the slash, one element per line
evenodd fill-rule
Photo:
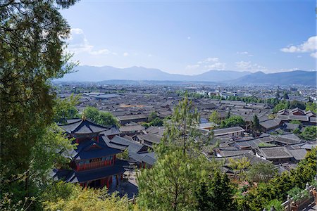
<path fill-rule="evenodd" d="M 74 65 L 63 53 L 70 27 L 58 11 L 73 4 L 75 0 L 0 2 L 0 197 L 14 192 L 15 204 L 37 195 L 38 172 L 50 166 L 51 159 L 39 156 L 37 147 L 51 158 L 49 147 L 60 138 L 46 138 L 56 104 L 50 82 Z"/>

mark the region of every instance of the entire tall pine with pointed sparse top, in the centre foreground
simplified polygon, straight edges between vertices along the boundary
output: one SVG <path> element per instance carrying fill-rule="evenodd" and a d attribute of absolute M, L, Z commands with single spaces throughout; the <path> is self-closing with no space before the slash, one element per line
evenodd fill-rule
<path fill-rule="evenodd" d="M 215 167 L 201 155 L 197 110 L 184 98 L 175 107 L 158 146 L 157 160 L 151 169 L 137 175 L 138 202 L 145 210 L 194 210 L 194 191 L 199 181 Z"/>

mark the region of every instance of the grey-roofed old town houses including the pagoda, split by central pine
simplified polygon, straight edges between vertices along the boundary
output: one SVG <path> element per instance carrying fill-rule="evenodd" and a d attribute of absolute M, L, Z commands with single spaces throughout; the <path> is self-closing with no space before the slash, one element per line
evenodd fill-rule
<path fill-rule="evenodd" d="M 127 103 L 127 97 L 129 103 Z M 93 104 L 92 98 L 95 98 Z M 80 110 L 85 106 L 95 106 L 112 113 L 120 127 L 105 127 L 82 119 L 68 120 L 60 127 L 68 137 L 77 143 L 77 148 L 63 152 L 69 159 L 68 169 L 54 170 L 52 177 L 81 186 L 116 189 L 125 181 L 126 172 L 137 168 L 150 168 L 156 162 L 153 146 L 160 142 L 163 127 L 144 127 L 150 113 L 155 111 L 163 119 L 172 115 L 173 107 L 180 96 L 170 94 L 86 94 L 81 99 Z M 216 148 L 204 148 L 207 158 L 224 160 L 223 172 L 233 174 L 228 163 L 230 158 L 248 158 L 251 165 L 256 162 L 272 162 L 278 172 L 290 171 L 297 162 L 303 160 L 311 148 L 317 146 L 316 140 L 304 141 L 292 132 L 302 131 L 304 127 L 316 125 L 316 114 L 299 108 L 280 110 L 271 117 L 271 107 L 265 103 L 244 103 L 242 101 L 219 101 L 209 98 L 192 98 L 194 108 L 201 116 L 199 130 L 208 134 L 213 129 L 213 143 Z M 215 129 L 209 122 L 209 115 L 217 110 L 220 120 L 228 115 L 242 117 L 244 127 Z M 251 135 L 251 121 L 257 115 L 262 133 Z M 297 120 L 297 123 L 292 123 Z M 293 121 L 294 122 L 294 121 Z M 300 122 L 300 123 L 298 123 Z"/>

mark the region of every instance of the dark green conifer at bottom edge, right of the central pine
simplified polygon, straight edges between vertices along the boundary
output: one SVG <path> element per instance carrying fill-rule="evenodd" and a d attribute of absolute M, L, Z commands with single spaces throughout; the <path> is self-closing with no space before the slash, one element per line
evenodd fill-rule
<path fill-rule="evenodd" d="M 234 191 L 227 174 L 215 171 L 210 179 L 201 181 L 198 190 L 195 191 L 195 210 L 234 210 Z"/>

